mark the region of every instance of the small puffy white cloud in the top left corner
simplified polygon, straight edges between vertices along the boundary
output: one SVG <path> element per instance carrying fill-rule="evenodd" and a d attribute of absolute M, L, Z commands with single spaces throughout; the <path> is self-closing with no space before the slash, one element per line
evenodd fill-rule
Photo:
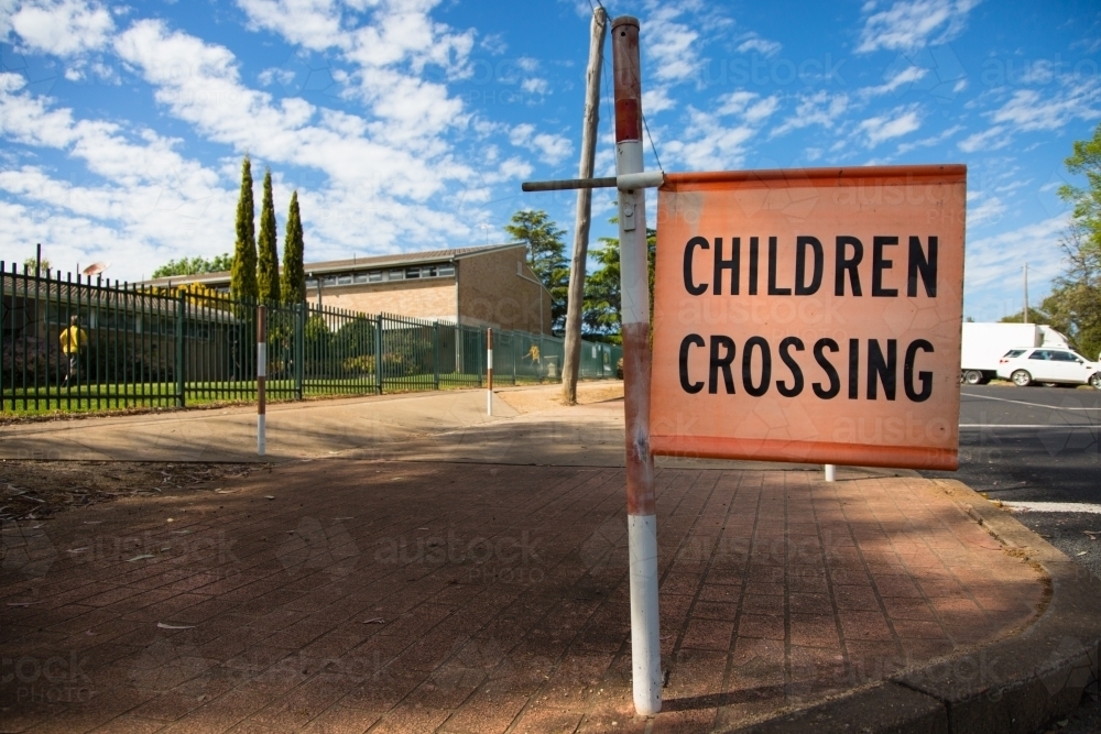
<path fill-rule="evenodd" d="M 10 22 L 28 46 L 63 57 L 101 47 L 115 29 L 106 8 L 83 0 L 28 2 Z"/>

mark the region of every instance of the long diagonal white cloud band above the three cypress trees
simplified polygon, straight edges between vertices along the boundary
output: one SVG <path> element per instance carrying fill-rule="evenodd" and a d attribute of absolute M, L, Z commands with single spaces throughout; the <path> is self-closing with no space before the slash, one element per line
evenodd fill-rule
<path fill-rule="evenodd" d="M 383 118 L 348 135 L 334 127 L 340 116 L 324 116 L 298 98 L 274 103 L 266 92 L 240 83 L 237 61 L 224 46 L 207 44 L 160 21 L 139 21 L 116 40 L 119 55 L 155 88 L 156 100 L 207 138 L 240 152 L 324 171 L 334 182 L 389 196 L 426 200 L 449 178 L 469 176 L 467 166 L 445 156 L 446 146 L 428 133 L 434 116 L 456 113 L 415 80 L 386 79 L 391 95 L 373 111 Z M 385 72 L 379 72 L 384 77 Z M 382 81 L 380 81 L 382 84 Z M 443 107 L 429 110 L 434 101 Z M 416 140 L 411 135 L 423 134 Z"/>

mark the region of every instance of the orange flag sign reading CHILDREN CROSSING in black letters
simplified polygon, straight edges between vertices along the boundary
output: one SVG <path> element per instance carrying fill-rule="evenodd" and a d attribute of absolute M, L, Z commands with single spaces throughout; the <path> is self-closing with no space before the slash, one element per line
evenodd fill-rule
<path fill-rule="evenodd" d="M 671 174 L 656 454 L 956 469 L 967 168 Z"/>

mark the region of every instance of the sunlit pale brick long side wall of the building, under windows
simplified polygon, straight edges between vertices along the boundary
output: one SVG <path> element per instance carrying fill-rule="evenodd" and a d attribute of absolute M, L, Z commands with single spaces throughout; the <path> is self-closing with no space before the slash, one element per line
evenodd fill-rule
<path fill-rule="evenodd" d="M 317 289 L 309 288 L 306 298 L 316 304 Z M 344 308 L 364 314 L 385 313 L 446 321 L 454 321 L 457 311 L 454 277 L 323 286 L 321 304 L 326 308 Z"/>

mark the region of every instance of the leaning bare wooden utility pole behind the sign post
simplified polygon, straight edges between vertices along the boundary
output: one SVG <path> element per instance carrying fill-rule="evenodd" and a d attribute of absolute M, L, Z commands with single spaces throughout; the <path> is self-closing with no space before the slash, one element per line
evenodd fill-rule
<path fill-rule="evenodd" d="M 602 7 L 592 11 L 589 26 L 589 66 L 585 72 L 585 121 L 581 131 L 580 178 L 592 177 L 597 155 L 597 123 L 600 120 L 600 68 L 603 64 L 604 32 L 608 15 Z M 566 405 L 577 405 L 577 374 L 581 363 L 581 314 L 585 310 L 585 266 L 589 256 L 589 221 L 592 215 L 592 189 L 577 189 L 577 215 L 574 218 L 574 260 L 569 266 L 569 296 L 566 307 L 566 347 L 562 365 L 562 397 Z"/>

